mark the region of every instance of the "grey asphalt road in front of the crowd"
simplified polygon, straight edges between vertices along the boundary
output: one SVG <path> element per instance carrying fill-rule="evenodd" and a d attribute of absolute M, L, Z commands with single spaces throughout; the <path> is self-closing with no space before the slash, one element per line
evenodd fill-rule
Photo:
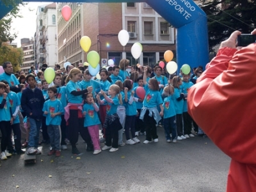
<path fill-rule="evenodd" d="M 42 145 L 35 165 L 24 166 L 23 154 L 0 162 L 0 191 L 225 191 L 230 158 L 209 138 L 168 144 L 163 128 L 158 135 L 158 143 L 143 144 L 140 136 L 141 144 L 97 155 L 81 138 L 79 156 L 70 145 L 60 158 L 47 156 L 49 145 Z"/>

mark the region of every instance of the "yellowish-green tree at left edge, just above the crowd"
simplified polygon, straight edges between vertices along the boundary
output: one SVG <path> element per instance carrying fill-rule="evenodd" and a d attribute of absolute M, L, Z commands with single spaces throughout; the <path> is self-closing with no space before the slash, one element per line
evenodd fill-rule
<path fill-rule="evenodd" d="M 20 71 L 20 64 L 22 64 L 23 50 L 22 48 L 15 48 L 8 43 L 3 43 L 0 47 L 0 64 L 5 61 L 10 61 L 13 66 L 13 71 Z"/>

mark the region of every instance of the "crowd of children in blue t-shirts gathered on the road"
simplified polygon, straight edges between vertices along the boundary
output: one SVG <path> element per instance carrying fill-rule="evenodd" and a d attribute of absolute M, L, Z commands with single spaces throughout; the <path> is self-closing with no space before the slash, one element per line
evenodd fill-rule
<path fill-rule="evenodd" d="M 112 73 L 106 68 L 100 69 L 100 80 L 84 68 L 72 68 L 67 75 L 56 71 L 51 84 L 44 79 L 44 72 L 39 71 L 37 77 L 29 74 L 26 81 L 22 80 L 17 94 L 2 80 L 1 159 L 23 153 L 20 121 L 28 125 L 23 146 L 30 155 L 41 154 L 38 150 L 41 143 L 51 144 L 49 156 L 60 156 L 61 150 L 67 149 L 67 143 L 72 147 L 72 154 L 79 154 L 76 147 L 79 135 L 86 143 L 86 151 L 93 154 L 107 149 L 115 152 L 119 146 L 138 144 L 138 135 L 145 135 L 143 144 L 158 142 L 159 124 L 164 127 L 168 143 L 194 137 L 191 133 L 193 119 L 188 114 L 186 101 L 188 89 L 193 85 L 190 73 L 180 73 L 168 80 L 160 66 L 155 66 L 154 70 L 148 66 L 132 66 L 131 74 L 127 73 L 127 66 L 129 60 L 122 59 L 119 66 L 111 68 Z M 24 79 L 23 76 L 20 78 Z M 199 73 L 195 78 L 198 76 Z M 141 89 L 145 92 L 142 96 L 137 92 Z M 18 115 L 19 112 L 22 115 Z M 102 138 L 99 138 L 100 124 Z M 40 129 L 42 142 L 39 141 Z M 15 148 L 12 147 L 12 131 Z M 104 147 L 100 148 L 100 142 L 105 142 Z"/>

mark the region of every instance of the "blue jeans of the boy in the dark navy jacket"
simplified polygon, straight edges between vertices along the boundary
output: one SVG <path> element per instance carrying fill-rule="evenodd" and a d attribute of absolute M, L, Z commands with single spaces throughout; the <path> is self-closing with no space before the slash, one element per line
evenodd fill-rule
<path fill-rule="evenodd" d="M 41 126 L 41 120 L 29 118 L 30 122 L 30 132 L 29 132 L 29 147 L 38 147 L 39 142 L 39 132 Z"/>

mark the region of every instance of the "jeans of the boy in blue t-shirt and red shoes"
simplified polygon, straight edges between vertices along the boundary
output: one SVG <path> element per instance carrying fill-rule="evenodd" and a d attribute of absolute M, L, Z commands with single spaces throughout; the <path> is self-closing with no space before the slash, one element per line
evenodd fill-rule
<path fill-rule="evenodd" d="M 52 150 L 60 151 L 61 130 L 60 126 L 50 124 L 47 126 Z"/>

